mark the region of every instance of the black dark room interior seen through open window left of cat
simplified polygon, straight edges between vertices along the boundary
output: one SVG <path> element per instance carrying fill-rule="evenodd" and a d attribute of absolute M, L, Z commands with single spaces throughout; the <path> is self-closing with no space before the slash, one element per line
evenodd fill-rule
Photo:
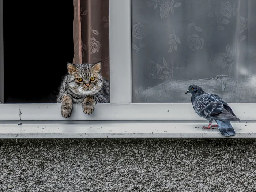
<path fill-rule="evenodd" d="M 56 103 L 72 62 L 73 1 L 3 1 L 4 102 Z"/>

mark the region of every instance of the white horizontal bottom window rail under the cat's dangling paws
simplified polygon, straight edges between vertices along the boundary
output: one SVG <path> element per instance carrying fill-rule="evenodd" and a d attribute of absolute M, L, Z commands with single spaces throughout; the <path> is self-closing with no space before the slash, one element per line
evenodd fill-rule
<path fill-rule="evenodd" d="M 256 103 L 230 103 L 240 120 L 256 120 Z M 60 114 L 60 104 L 0 104 L 0 121 L 56 121 L 56 120 L 204 120 L 191 103 L 119 103 L 97 104 L 93 114 L 74 105 L 71 117 Z"/>

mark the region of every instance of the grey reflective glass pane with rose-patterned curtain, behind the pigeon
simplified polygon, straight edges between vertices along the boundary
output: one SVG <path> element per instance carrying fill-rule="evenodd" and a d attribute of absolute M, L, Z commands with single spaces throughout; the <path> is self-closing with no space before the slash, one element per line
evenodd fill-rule
<path fill-rule="evenodd" d="M 132 0 L 133 103 L 256 102 L 255 0 Z"/>

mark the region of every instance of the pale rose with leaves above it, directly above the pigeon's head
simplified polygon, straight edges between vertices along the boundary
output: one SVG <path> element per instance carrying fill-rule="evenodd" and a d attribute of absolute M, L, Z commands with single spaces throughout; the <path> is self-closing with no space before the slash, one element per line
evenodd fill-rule
<path fill-rule="evenodd" d="M 194 51 L 203 49 L 204 39 L 202 37 L 199 37 L 199 35 L 196 34 L 197 31 L 202 32 L 203 29 L 201 27 L 196 26 L 193 20 L 192 20 L 192 23 L 189 23 L 187 29 L 194 29 L 194 33 L 191 35 L 188 35 L 187 37 L 188 47 Z"/>

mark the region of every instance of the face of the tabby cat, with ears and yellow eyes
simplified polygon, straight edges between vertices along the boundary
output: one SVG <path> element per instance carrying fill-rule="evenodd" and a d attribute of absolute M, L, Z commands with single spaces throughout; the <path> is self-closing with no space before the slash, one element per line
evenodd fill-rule
<path fill-rule="evenodd" d="M 101 62 L 95 64 L 67 64 L 70 89 L 78 95 L 96 94 L 103 85 Z"/>

